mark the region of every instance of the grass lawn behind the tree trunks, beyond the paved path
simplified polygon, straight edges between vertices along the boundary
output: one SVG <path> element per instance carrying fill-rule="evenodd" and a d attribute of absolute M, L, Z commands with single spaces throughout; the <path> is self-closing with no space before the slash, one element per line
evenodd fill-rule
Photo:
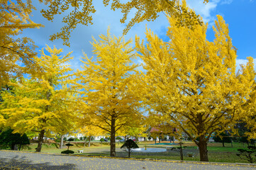
<path fill-rule="evenodd" d="M 84 147 L 82 142 L 72 142 L 74 146 L 69 147 L 70 150 L 73 150 L 74 154 L 79 154 L 77 150 L 83 150 L 84 155 L 94 155 L 94 156 L 109 156 L 110 146 L 109 142 L 91 142 L 91 147 Z M 151 145 L 154 142 L 139 142 L 138 146 L 141 148 L 157 147 L 157 148 L 166 148 L 166 147 L 176 147 L 178 145 Z M 122 142 L 116 142 L 116 156 L 117 157 L 127 157 L 127 153 L 120 149 Z M 184 160 L 187 161 L 199 161 L 199 149 L 193 142 L 184 142 L 184 146 L 187 146 L 184 152 Z M 245 145 L 246 147 L 247 145 Z M 23 151 L 35 152 L 37 144 L 31 144 L 28 147 L 23 147 Z M 43 144 L 41 152 L 60 154 L 65 149 L 58 149 L 59 145 L 56 143 Z M 226 143 L 225 147 L 222 147 L 222 143 L 208 143 L 208 159 L 210 162 L 239 162 L 239 163 L 248 163 L 245 160 L 240 159 L 236 156 L 238 153 L 237 149 L 243 148 L 243 143 L 233 142 L 233 147 L 230 143 Z M 188 153 L 193 153 L 194 157 L 187 157 Z M 180 160 L 180 154 L 177 150 L 172 150 L 170 152 L 133 152 L 131 156 L 133 158 L 149 158 L 149 159 L 172 159 Z"/>

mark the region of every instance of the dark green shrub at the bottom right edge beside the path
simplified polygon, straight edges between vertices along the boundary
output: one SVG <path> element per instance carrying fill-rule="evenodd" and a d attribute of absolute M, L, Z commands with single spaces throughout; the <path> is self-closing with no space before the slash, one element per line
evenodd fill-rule
<path fill-rule="evenodd" d="M 248 146 L 248 149 L 238 149 L 240 152 L 238 157 L 240 159 L 246 160 L 247 162 L 250 162 L 251 164 L 256 162 L 256 147 L 255 146 Z"/>

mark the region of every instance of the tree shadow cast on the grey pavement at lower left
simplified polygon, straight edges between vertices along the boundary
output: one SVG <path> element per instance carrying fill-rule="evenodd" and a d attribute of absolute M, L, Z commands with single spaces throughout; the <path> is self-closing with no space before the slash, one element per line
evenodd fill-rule
<path fill-rule="evenodd" d="M 70 170 L 76 169 L 76 164 L 52 165 L 50 162 L 36 163 L 28 160 L 27 157 L 0 158 L 0 169 L 50 169 Z"/>

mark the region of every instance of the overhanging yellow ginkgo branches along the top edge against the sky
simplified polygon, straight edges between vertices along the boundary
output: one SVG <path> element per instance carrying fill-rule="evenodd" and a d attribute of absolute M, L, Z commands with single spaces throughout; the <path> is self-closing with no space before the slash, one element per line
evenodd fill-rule
<path fill-rule="evenodd" d="M 39 0 L 43 2 L 44 0 Z M 203 1 L 203 0 L 199 0 Z M 43 9 L 41 13 L 49 21 L 53 21 L 55 15 L 60 15 L 68 11 L 68 14 L 64 16 L 62 22 L 66 25 L 61 28 L 59 33 L 51 35 L 50 40 L 62 39 L 64 45 L 69 46 L 70 33 L 78 24 L 88 26 L 92 24 L 92 13 L 96 12 L 93 5 L 93 0 L 45 0 L 48 3 L 48 9 Z M 204 0 L 207 3 L 208 0 Z M 104 6 L 110 4 L 113 11 L 120 10 L 123 13 L 123 18 L 121 18 L 121 23 L 125 23 L 127 16 L 131 11 L 135 11 L 133 18 L 126 25 L 123 33 L 126 34 L 128 30 L 135 23 L 140 23 L 143 21 L 154 21 L 160 12 L 165 12 L 170 16 L 177 18 L 178 26 L 187 26 L 188 28 L 194 29 L 194 26 L 201 24 L 199 16 L 196 16 L 194 11 L 189 11 L 186 7 L 185 1 L 180 0 L 140 0 L 140 1 L 119 1 L 119 0 L 103 0 Z"/>

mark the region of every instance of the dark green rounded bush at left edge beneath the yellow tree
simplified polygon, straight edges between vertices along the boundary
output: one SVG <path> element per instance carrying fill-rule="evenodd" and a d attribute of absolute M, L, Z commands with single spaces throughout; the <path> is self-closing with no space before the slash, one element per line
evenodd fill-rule
<path fill-rule="evenodd" d="M 21 145 L 29 145 L 29 139 L 26 134 L 21 134 L 19 133 L 12 133 L 13 130 L 8 129 L 4 132 L 1 133 L 0 135 L 0 145 L 4 149 L 7 147 L 11 147 L 12 150 L 15 149 L 15 145 L 19 145 L 19 149 L 21 150 Z"/>

